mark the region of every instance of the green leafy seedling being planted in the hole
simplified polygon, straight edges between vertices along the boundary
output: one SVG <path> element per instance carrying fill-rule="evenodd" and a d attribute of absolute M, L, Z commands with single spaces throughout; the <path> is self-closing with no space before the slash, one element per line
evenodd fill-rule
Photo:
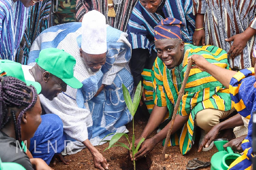
<path fill-rule="evenodd" d="M 137 89 L 135 91 L 135 95 L 134 95 L 134 101 L 131 101 L 131 96 L 129 94 L 129 91 L 127 90 L 127 88 L 125 87 L 125 85 L 122 84 L 122 91 L 123 91 L 123 95 L 125 98 L 125 103 L 127 105 L 128 110 L 131 112 L 131 115 L 134 117 L 138 105 L 140 103 L 140 98 L 142 95 L 142 88 L 141 88 L 141 82 L 139 82 Z M 115 133 L 110 133 L 107 136 L 113 135 Z M 103 139 L 105 139 L 107 136 L 105 136 Z M 118 140 L 122 137 L 125 136 L 126 139 L 128 140 L 129 144 L 131 145 L 131 149 L 124 143 L 118 142 Z M 124 147 L 126 149 L 128 149 L 131 153 L 132 156 L 134 158 L 134 155 L 138 152 L 140 145 L 144 142 L 145 138 L 140 139 L 140 142 L 137 144 L 136 148 L 135 148 L 135 136 L 134 136 L 134 120 L 133 120 L 133 134 L 132 134 L 132 144 L 130 143 L 129 139 L 128 139 L 128 135 L 126 133 L 116 133 L 111 140 L 103 140 L 101 142 L 109 142 L 108 147 L 105 150 L 110 149 L 111 147 Z M 104 151 L 105 151 L 104 150 Z M 103 151 L 103 152 L 104 152 Z M 135 170 L 135 161 L 134 161 L 134 170 Z"/>

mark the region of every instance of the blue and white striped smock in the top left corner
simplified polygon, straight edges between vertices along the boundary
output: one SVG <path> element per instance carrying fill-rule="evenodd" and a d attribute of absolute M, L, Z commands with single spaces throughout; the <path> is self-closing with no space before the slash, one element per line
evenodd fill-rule
<path fill-rule="evenodd" d="M 29 8 L 20 0 L 13 7 L 11 0 L 0 0 L 0 59 L 15 61 L 26 28 L 28 11 Z"/>

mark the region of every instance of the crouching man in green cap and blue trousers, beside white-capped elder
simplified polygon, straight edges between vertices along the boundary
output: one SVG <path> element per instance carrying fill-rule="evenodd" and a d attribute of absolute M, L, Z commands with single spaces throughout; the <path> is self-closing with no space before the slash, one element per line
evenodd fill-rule
<path fill-rule="evenodd" d="M 34 66 L 22 65 L 22 69 L 25 79 L 40 83 L 42 87 L 41 94 L 47 99 L 53 100 L 59 93 L 67 90 L 67 85 L 71 88 L 82 87 L 81 82 L 79 82 L 73 74 L 75 65 L 76 59 L 64 50 L 46 48 L 40 52 Z M 40 98 L 42 98 L 42 96 L 40 96 Z M 54 152 L 52 152 L 50 149 L 51 152 L 47 153 L 47 150 L 39 150 L 38 142 L 44 139 L 44 134 L 47 131 L 50 132 L 47 136 L 49 138 L 48 140 L 53 141 L 52 145 L 55 146 L 55 142 L 57 143 L 57 153 L 64 150 L 63 123 L 59 116 L 55 114 L 42 115 L 41 119 L 41 125 L 35 132 L 35 136 L 30 140 L 29 150 L 32 156 L 44 159 L 44 161 L 49 164 L 56 151 L 54 150 Z M 49 124 L 49 122 L 51 123 Z M 54 132 L 54 135 L 51 135 L 52 132 Z M 39 148 L 45 148 L 48 143 L 44 142 L 42 144 L 42 142 L 40 142 L 39 144 L 41 144 Z M 42 147 L 44 144 L 45 147 Z M 41 153 L 35 152 L 34 148 Z M 62 155 L 59 154 L 58 156 Z M 55 157 L 53 157 L 53 160 L 55 160 Z M 61 161 L 63 161 L 64 164 L 68 164 L 69 162 L 64 158 L 61 158 Z"/>

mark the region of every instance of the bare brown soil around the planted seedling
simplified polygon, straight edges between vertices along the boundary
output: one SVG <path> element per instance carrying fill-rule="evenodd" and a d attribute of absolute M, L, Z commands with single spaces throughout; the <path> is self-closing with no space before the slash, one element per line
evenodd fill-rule
<path fill-rule="evenodd" d="M 127 129 L 130 131 L 129 139 L 132 139 L 132 122 L 129 123 Z M 139 125 L 134 121 L 134 133 L 135 139 L 140 136 L 145 125 Z M 156 132 L 154 132 L 155 134 Z M 154 135 L 153 134 L 153 135 Z M 161 153 L 163 150 L 162 145 L 157 144 L 150 154 L 140 161 L 136 161 L 137 170 L 185 170 L 186 164 L 189 160 L 198 158 L 201 161 L 210 161 L 214 153 L 217 152 L 216 147 L 207 151 L 198 153 L 198 138 L 196 136 L 196 142 L 192 149 L 186 155 L 181 155 L 179 147 L 168 147 L 166 154 L 169 156 L 165 161 L 161 161 Z M 121 138 L 121 141 L 128 144 L 126 138 Z M 103 150 L 108 146 L 108 143 L 96 146 L 100 153 L 107 159 L 109 165 L 109 170 L 133 170 L 132 161 L 128 157 L 128 151 L 122 147 L 112 147 L 103 153 Z M 66 159 L 71 159 L 69 165 L 64 165 L 60 162 L 57 165 L 50 165 L 55 170 L 95 170 L 93 165 L 93 159 L 88 149 L 83 149 L 81 152 L 74 155 L 65 156 Z M 201 168 L 200 170 L 210 170 L 210 167 Z"/>

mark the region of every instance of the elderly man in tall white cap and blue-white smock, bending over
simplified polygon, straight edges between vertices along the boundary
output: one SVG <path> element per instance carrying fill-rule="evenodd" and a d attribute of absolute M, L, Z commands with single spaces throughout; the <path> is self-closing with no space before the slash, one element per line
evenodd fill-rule
<path fill-rule="evenodd" d="M 76 58 L 74 76 L 83 84 L 49 101 L 42 97 L 46 113 L 57 114 L 63 122 L 67 139 L 67 154 L 87 147 L 95 167 L 108 169 L 106 159 L 93 147 L 113 132 L 127 132 L 125 125 L 132 120 L 122 94 L 122 83 L 130 94 L 134 89 L 128 66 L 131 45 L 127 34 L 106 25 L 98 11 L 89 11 L 82 23 L 67 23 L 43 31 L 34 41 L 29 53 L 33 65 L 44 48 L 64 49 Z M 41 97 L 41 96 L 40 96 Z M 105 140 L 110 140 L 107 136 Z"/>

